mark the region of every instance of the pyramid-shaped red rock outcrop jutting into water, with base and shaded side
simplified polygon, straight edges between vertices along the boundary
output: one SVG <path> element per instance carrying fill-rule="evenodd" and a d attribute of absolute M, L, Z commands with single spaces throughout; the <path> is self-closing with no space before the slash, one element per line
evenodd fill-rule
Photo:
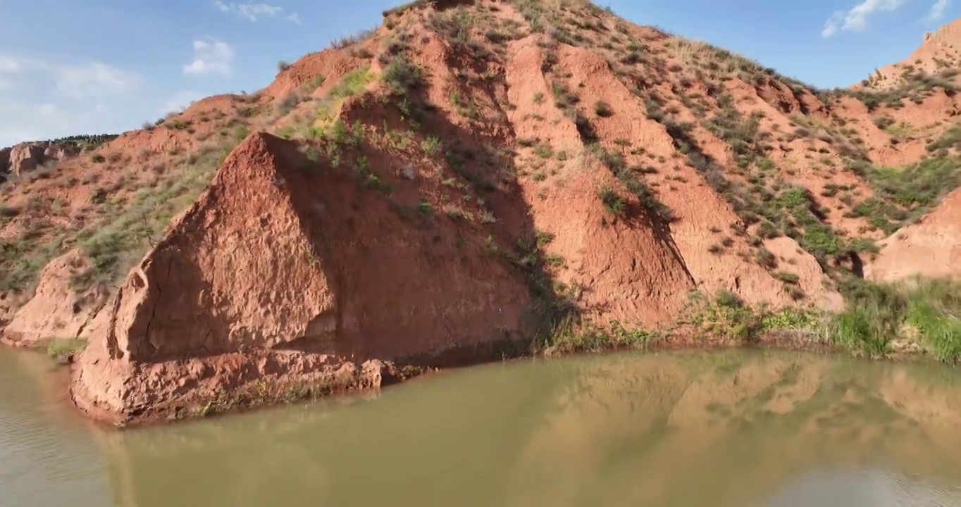
<path fill-rule="evenodd" d="M 520 330 L 527 287 L 502 263 L 430 254 L 431 235 L 306 161 L 263 133 L 234 149 L 90 326 L 82 408 L 136 416 L 267 375 L 366 371 L 359 361 Z"/>

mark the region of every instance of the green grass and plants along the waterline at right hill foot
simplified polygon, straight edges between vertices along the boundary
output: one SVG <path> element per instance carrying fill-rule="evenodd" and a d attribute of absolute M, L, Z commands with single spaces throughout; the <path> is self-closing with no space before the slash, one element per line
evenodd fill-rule
<path fill-rule="evenodd" d="M 530 353 L 556 355 L 619 349 L 763 345 L 850 351 L 872 358 L 925 354 L 961 359 L 961 281 L 914 278 L 858 280 L 845 288 L 846 308 L 751 307 L 727 291 L 692 293 L 681 317 L 655 329 L 599 325 L 566 317 L 534 341 Z"/>

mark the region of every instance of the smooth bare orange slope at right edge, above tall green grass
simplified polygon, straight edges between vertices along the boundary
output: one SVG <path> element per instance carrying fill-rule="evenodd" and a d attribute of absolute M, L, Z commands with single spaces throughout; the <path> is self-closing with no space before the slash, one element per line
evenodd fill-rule
<path fill-rule="evenodd" d="M 961 275 L 961 190 L 945 197 L 921 222 L 885 240 L 865 276 L 876 281 Z"/>

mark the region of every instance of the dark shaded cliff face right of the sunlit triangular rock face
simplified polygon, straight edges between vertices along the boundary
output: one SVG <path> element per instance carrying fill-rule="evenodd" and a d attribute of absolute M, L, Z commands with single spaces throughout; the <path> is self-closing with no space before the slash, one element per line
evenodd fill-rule
<path fill-rule="evenodd" d="M 319 336 L 284 349 L 428 367 L 479 363 L 528 352 L 574 310 L 556 293 L 537 248 L 530 206 L 505 148 L 512 138 L 458 126 L 417 91 L 403 109 L 413 109 L 418 135 L 443 140 L 443 160 L 433 160 L 439 163 L 404 159 L 365 137 L 333 167 L 330 158 L 311 162 L 303 149 L 274 141 L 283 163 L 301 168 L 284 171 L 286 184 L 302 216 L 311 216 L 308 234 L 337 307 L 333 350 Z M 392 133 L 410 129 L 404 116 L 395 103 L 348 104 L 342 112 L 347 125 Z M 438 201 L 447 204 L 426 205 Z M 472 216 L 461 205 L 489 215 Z"/>

